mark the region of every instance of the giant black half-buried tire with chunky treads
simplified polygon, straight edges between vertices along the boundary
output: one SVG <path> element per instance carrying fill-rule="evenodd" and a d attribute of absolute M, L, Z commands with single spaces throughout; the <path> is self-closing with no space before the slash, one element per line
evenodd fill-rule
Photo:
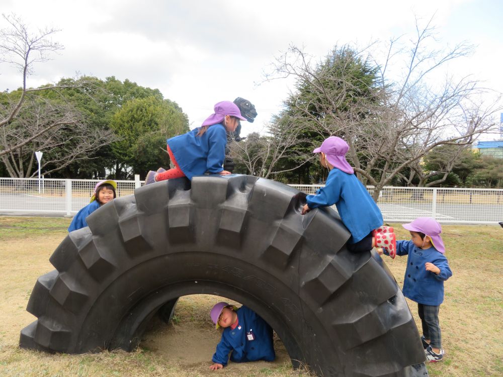
<path fill-rule="evenodd" d="M 406 302 L 377 254 L 350 253 L 337 213 L 246 175 L 153 183 L 91 214 L 39 277 L 24 348 L 135 348 L 178 297 L 224 296 L 262 316 L 294 366 L 324 376 L 427 375 Z M 171 305 L 171 306 L 170 306 Z M 420 365 L 415 365 L 418 364 Z M 426 374 L 425 374 L 426 373 Z"/>

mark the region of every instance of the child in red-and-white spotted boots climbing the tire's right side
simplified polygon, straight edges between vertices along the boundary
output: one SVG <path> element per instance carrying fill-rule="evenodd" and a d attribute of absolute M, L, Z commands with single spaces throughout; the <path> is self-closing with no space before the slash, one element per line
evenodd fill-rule
<path fill-rule="evenodd" d="M 306 197 L 302 215 L 313 208 L 336 205 L 341 220 L 351 232 L 347 247 L 353 252 L 369 251 L 373 247 L 387 247 L 394 258 L 395 234 L 392 227 L 382 226 L 379 207 L 354 174 L 344 157 L 349 145 L 343 139 L 330 136 L 313 153 L 319 153 L 321 166 L 328 169 L 325 186 L 316 195 Z"/>

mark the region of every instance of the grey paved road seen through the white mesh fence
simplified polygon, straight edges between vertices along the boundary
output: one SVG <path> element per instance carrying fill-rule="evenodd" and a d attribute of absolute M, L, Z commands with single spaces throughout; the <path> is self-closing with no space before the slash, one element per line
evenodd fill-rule
<path fill-rule="evenodd" d="M 72 199 L 72 214 L 86 206 L 85 198 Z M 385 221 L 406 222 L 419 216 L 432 216 L 428 203 L 381 204 Z M 42 197 L 27 194 L 0 194 L 0 215 L 65 216 L 64 197 Z M 436 218 L 441 222 L 491 222 L 503 221 L 503 205 L 438 204 Z"/>

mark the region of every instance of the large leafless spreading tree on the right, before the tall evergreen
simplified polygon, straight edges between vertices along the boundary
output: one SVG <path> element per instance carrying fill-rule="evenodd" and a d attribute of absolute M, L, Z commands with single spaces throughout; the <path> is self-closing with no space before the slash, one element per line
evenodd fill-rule
<path fill-rule="evenodd" d="M 404 168 L 417 168 L 433 148 L 470 144 L 496 126 L 496 102 L 485 109 L 473 106 L 473 98 L 486 91 L 477 81 L 439 80 L 443 66 L 470 54 L 472 47 L 430 47 L 435 40 L 431 22 L 420 28 L 416 21 L 416 35 L 408 45 L 401 45 L 403 38 L 393 39 L 380 55 L 371 53 L 378 43 L 358 53 L 344 47 L 313 65 L 310 56 L 291 46 L 266 77 L 296 78 L 298 91 L 290 108 L 313 132 L 347 140 L 348 158 L 358 177 L 375 186 L 375 201 L 384 185 Z"/>

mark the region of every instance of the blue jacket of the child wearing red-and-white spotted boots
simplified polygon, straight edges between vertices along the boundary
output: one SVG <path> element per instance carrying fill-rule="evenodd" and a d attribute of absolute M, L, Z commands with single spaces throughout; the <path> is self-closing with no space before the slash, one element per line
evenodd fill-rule
<path fill-rule="evenodd" d="M 306 200 L 310 209 L 335 204 L 341 220 L 353 236 L 350 239 L 352 243 L 362 240 L 383 223 L 379 207 L 362 182 L 355 174 L 338 168 L 330 170 L 325 187 L 319 189 L 316 195 L 308 195 Z"/>

